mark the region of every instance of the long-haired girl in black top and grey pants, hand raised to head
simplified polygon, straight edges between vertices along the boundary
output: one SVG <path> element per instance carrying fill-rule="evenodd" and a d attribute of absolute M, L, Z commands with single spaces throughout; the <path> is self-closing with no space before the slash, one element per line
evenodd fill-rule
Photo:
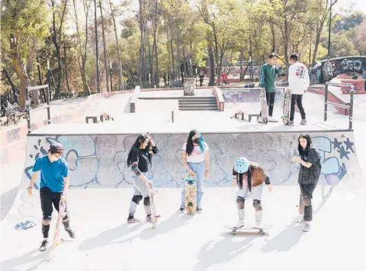
<path fill-rule="evenodd" d="M 151 219 L 150 191 L 153 189 L 153 182 L 147 179 L 148 165 L 152 165 L 153 154 L 157 154 L 159 148 L 148 134 L 139 134 L 128 153 L 127 166 L 132 169 L 131 177 L 133 184 L 133 197 L 128 210 L 128 223 L 137 223 L 135 211 L 139 202 L 144 198 L 146 221 L 153 223 Z"/>

